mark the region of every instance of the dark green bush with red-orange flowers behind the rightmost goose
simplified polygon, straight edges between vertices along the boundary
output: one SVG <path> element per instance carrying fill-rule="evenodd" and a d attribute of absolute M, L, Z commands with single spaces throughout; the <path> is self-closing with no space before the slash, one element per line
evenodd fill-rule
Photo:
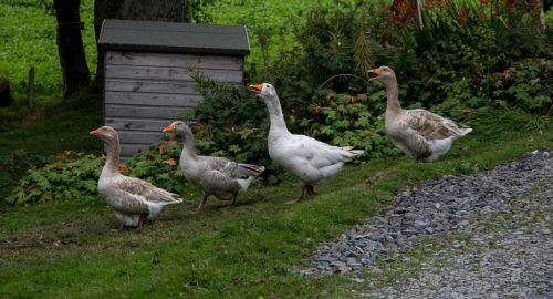
<path fill-rule="evenodd" d="M 544 80 L 547 63 L 541 63 L 540 72 L 524 72 L 520 80 L 501 78 L 503 72 L 525 68 L 521 64 L 528 64 L 526 58 L 545 56 L 551 48 L 547 32 L 524 8 L 495 8 L 477 1 L 428 8 L 422 28 L 395 24 L 401 37 L 397 47 L 413 50 L 410 63 L 399 63 L 384 49 L 374 51 L 375 60 L 397 68 L 407 104 L 417 99 L 425 107 L 457 117 L 495 103 L 550 113 L 551 99 L 544 92 L 551 89 Z"/>

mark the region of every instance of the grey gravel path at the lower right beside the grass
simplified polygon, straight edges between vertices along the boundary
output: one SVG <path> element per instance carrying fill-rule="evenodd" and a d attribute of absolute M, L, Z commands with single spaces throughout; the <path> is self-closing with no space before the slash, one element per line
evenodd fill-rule
<path fill-rule="evenodd" d="M 369 298 L 553 298 L 553 151 L 474 175 L 444 176 L 395 197 L 379 216 L 324 244 L 304 275 L 408 264 L 403 252 L 448 236 L 415 274 L 363 279 Z M 459 236 L 465 236 L 461 238 Z M 446 238 L 446 239 L 448 239 Z M 441 246 L 441 245 L 440 245 Z M 410 270 L 413 271 L 413 269 Z"/>

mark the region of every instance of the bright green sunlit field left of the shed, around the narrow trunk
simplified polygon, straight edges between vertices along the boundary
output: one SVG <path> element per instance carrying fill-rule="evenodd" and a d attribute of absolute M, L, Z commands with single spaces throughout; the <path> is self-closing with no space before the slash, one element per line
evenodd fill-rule
<path fill-rule="evenodd" d="M 81 1 L 82 31 L 88 69 L 96 70 L 94 38 L 94 1 Z M 35 104 L 52 104 L 61 94 L 62 75 L 55 43 L 56 21 L 52 2 L 45 0 L 8 0 L 0 2 L 0 76 L 12 82 L 15 100 L 22 101 L 28 85 L 29 68 L 35 68 Z"/>

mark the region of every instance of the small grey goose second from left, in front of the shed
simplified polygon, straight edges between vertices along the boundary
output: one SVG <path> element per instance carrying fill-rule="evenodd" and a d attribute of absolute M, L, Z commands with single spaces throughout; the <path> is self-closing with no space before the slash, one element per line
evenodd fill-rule
<path fill-rule="evenodd" d="M 231 200 L 230 204 L 233 205 L 238 194 L 246 192 L 252 179 L 265 169 L 263 166 L 236 163 L 223 157 L 196 155 L 194 133 L 185 122 L 174 122 L 164 132 L 182 137 L 180 167 L 186 179 L 202 190 L 196 213 L 201 210 L 210 195 Z"/>

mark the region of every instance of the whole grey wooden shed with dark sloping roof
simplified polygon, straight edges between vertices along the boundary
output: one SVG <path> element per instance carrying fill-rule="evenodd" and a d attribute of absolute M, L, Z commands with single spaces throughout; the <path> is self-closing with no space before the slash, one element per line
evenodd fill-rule
<path fill-rule="evenodd" d="M 201 95 L 189 68 L 219 82 L 243 84 L 250 52 L 241 25 L 104 20 L 104 124 L 119 133 L 122 158 L 147 148 Z"/>

